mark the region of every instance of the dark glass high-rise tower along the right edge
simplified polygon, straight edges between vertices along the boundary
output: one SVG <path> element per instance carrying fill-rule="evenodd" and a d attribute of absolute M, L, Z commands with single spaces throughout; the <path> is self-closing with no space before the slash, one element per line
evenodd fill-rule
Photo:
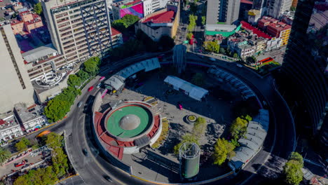
<path fill-rule="evenodd" d="M 322 130 L 328 144 L 328 3 L 299 1 L 281 67 L 280 89 L 296 128 L 306 135 Z M 326 122 L 327 123 L 327 118 Z"/>

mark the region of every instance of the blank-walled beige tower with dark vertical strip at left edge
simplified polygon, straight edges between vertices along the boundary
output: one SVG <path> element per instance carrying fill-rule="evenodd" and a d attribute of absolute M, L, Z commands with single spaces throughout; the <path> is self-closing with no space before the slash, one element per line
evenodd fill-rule
<path fill-rule="evenodd" d="M 0 27 L 0 50 L 0 113 L 13 109 L 19 102 L 34 104 L 34 89 L 11 25 Z"/>

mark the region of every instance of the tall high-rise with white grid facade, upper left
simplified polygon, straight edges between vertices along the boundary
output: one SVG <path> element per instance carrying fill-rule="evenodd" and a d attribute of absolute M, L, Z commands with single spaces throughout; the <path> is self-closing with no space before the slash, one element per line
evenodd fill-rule
<path fill-rule="evenodd" d="M 111 48 L 105 0 L 41 1 L 53 46 L 67 63 L 104 54 Z"/>

